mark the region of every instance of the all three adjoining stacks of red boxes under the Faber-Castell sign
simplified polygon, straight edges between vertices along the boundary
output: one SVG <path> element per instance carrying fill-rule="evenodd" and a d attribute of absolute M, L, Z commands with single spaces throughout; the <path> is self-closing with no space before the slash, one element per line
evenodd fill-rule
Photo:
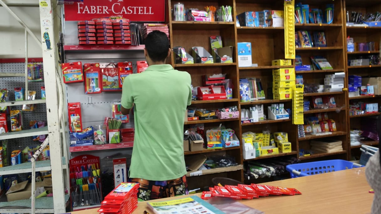
<path fill-rule="evenodd" d="M 131 45 L 130 20 L 99 18 L 78 22 L 79 45 Z"/>

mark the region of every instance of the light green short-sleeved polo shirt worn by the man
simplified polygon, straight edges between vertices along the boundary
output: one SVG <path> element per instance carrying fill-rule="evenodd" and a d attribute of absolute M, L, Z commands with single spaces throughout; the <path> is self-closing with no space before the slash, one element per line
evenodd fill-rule
<path fill-rule="evenodd" d="M 150 65 L 124 79 L 122 106 L 134 104 L 131 178 L 163 181 L 186 174 L 183 131 L 191 98 L 191 75 L 168 64 Z"/>

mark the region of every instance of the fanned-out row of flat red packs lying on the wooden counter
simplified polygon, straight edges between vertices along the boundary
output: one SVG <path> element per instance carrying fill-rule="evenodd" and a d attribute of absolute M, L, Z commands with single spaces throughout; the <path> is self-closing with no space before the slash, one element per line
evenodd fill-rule
<path fill-rule="evenodd" d="M 238 186 L 225 185 L 210 187 L 210 191 L 202 192 L 202 199 L 209 199 L 214 196 L 233 198 L 235 200 L 241 199 L 253 199 L 259 198 L 259 196 L 269 196 L 269 195 L 296 195 L 301 194 L 295 188 L 285 188 L 285 187 L 275 187 L 270 185 L 260 185 L 260 184 L 239 184 Z"/>

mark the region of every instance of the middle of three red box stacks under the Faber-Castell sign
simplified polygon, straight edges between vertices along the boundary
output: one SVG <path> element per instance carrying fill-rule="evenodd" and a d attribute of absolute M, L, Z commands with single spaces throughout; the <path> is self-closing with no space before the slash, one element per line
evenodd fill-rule
<path fill-rule="evenodd" d="M 113 45 L 114 32 L 112 30 L 112 22 L 110 19 L 96 20 L 96 38 L 98 45 Z"/>

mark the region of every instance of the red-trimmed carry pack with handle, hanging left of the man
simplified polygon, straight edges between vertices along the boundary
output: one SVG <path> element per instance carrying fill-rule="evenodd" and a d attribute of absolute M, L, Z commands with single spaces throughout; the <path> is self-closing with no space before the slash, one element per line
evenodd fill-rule
<path fill-rule="evenodd" d="M 101 68 L 102 91 L 122 91 L 119 87 L 119 73 L 117 65 L 110 62 L 106 67 Z"/>

